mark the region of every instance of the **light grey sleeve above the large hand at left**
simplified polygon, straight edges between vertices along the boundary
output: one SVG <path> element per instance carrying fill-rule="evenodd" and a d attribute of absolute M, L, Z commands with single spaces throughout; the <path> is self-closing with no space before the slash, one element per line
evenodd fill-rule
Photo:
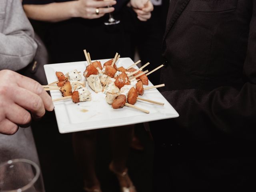
<path fill-rule="evenodd" d="M 34 58 L 37 44 L 20 0 L 0 1 L 0 70 L 20 70 Z"/>

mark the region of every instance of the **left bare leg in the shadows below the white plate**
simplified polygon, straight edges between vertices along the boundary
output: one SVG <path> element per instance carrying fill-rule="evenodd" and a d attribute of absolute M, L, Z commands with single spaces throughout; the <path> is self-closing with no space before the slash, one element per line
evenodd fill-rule
<path fill-rule="evenodd" d="M 78 166 L 83 174 L 85 188 L 100 189 L 94 162 L 98 130 L 73 133 L 73 147 Z"/>

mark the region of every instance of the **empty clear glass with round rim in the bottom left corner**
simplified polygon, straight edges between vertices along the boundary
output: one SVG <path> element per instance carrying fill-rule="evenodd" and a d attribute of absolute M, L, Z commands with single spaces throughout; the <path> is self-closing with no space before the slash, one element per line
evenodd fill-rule
<path fill-rule="evenodd" d="M 0 192 L 44 192 L 39 166 L 27 159 L 0 164 Z"/>

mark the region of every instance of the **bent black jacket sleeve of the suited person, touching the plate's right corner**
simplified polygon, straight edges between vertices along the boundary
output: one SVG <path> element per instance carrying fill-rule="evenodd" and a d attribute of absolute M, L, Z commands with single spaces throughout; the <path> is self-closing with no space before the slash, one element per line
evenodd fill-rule
<path fill-rule="evenodd" d="M 190 135 L 209 136 L 212 131 L 255 140 L 256 134 L 256 2 L 250 22 L 242 88 L 218 87 L 212 91 L 190 89 L 162 92 L 180 114 L 173 121 Z M 174 82 L 175 83 L 175 82 Z"/>

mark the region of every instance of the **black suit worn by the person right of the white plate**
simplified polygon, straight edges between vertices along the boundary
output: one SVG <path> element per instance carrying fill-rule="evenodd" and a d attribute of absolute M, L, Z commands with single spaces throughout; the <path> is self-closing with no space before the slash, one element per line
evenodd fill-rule
<path fill-rule="evenodd" d="M 249 186 L 255 171 L 256 1 L 171 0 L 163 57 L 161 92 L 180 117 L 150 124 L 156 187 L 164 181 L 184 189 L 177 191 Z"/>

